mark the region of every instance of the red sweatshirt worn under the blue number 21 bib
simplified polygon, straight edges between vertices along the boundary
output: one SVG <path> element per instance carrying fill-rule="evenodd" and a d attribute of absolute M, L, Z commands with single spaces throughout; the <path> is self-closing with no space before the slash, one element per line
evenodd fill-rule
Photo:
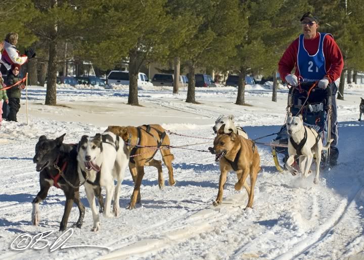
<path fill-rule="evenodd" d="M 296 69 L 295 75 L 298 77 L 297 68 L 297 53 L 298 53 L 298 40 L 295 39 L 292 44 L 287 48 L 281 60 L 278 63 L 278 71 L 282 79 L 285 79 L 288 74 L 291 74 L 293 68 Z M 314 55 L 319 48 L 320 35 L 316 33 L 313 39 L 304 39 L 303 45 L 309 55 Z M 344 60 L 342 58 L 339 46 L 336 44 L 334 38 L 326 35 L 324 38 L 324 55 L 326 61 L 326 77 L 329 78 L 330 83 L 338 79 L 344 67 Z"/>

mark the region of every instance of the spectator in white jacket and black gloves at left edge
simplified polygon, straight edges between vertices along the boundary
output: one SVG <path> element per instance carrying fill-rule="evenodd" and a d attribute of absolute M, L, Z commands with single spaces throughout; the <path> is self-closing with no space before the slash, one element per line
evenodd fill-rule
<path fill-rule="evenodd" d="M 25 50 L 25 55 L 20 55 L 16 49 L 19 35 L 16 32 L 9 32 L 4 40 L 4 51 L 0 60 L 0 71 L 7 74 L 13 64 L 23 65 L 28 59 L 35 56 L 33 49 Z"/>

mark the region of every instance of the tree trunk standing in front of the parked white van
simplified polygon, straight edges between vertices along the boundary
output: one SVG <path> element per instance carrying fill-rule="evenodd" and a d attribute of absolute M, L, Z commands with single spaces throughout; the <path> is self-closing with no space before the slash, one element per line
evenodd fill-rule
<path fill-rule="evenodd" d="M 138 102 L 138 54 L 129 51 L 129 98 L 128 105 L 139 106 Z"/>

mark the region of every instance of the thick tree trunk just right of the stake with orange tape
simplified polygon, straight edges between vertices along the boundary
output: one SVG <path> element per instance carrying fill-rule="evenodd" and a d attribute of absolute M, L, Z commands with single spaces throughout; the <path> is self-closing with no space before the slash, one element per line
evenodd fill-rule
<path fill-rule="evenodd" d="M 57 105 L 57 41 L 52 40 L 49 44 L 49 61 L 47 75 L 47 94 L 45 94 L 45 105 Z"/>

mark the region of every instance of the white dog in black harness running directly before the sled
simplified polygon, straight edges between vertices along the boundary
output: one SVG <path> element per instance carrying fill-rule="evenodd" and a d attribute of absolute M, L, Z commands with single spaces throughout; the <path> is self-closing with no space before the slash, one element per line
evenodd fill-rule
<path fill-rule="evenodd" d="M 315 155 L 316 175 L 313 183 L 317 184 L 319 182 L 321 152 L 328 150 L 334 139 L 330 139 L 327 145 L 323 146 L 319 133 L 314 129 L 303 125 L 302 115 L 292 116 L 292 113 L 289 113 L 286 126 L 290 136 L 288 139 L 289 157 L 286 162 L 287 169 L 291 171 L 292 175 L 297 174 L 297 170 L 291 165 L 294 162 L 295 155 L 299 155 L 299 168 L 302 178 L 307 177 L 312 164 L 313 155 Z"/>

